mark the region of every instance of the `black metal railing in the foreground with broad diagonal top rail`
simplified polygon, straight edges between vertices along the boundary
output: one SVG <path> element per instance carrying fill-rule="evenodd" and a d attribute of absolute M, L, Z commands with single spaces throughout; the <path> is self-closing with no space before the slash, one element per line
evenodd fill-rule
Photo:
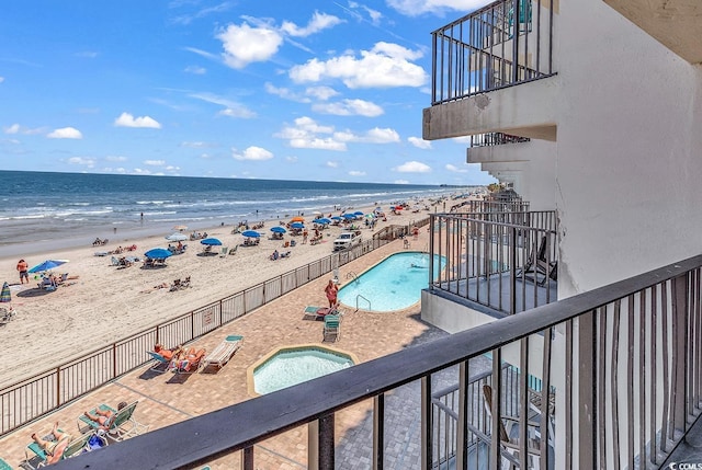
<path fill-rule="evenodd" d="M 237 451 L 241 468 L 252 470 L 256 447 L 287 431 L 294 431 L 286 434 L 291 452 L 303 446 L 308 468 L 331 470 L 336 414 L 369 401 L 373 433 L 353 450 L 369 468 L 382 469 L 389 449 L 401 446 L 386 440 L 385 426 L 396 416 L 386 412 L 386 398 L 409 383 L 419 385 L 419 397 L 395 412 L 421 417 L 421 468 L 442 457 L 434 445 L 441 429 L 455 429 L 441 437 L 451 443 L 439 442 L 452 449 L 444 457 L 466 468 L 474 415 L 484 410 L 489 424 L 477 431 L 489 443 L 490 469 L 502 462 L 522 469 L 658 468 L 701 412 L 701 305 L 698 255 L 60 461 L 56 470 L 186 469 Z M 483 388 L 488 405 L 476 410 L 468 378 L 486 356 L 492 371 L 490 387 Z M 502 376 L 506 365 L 519 370 L 513 387 Z M 433 379 L 450 369 L 457 369 L 458 385 L 455 405 L 445 406 L 453 427 L 438 423 L 433 412 Z M 502 437 L 498 429 L 510 413 L 520 426 Z M 308 439 L 297 432 L 301 425 L 308 425 Z"/>

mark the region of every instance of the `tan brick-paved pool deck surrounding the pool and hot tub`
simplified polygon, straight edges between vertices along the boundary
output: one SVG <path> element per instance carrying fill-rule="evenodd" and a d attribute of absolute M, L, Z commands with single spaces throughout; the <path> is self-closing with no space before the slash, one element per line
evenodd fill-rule
<path fill-rule="evenodd" d="M 418 240 L 409 240 L 409 250 L 422 251 L 428 244 L 428 232 L 423 229 Z M 346 282 L 348 272 L 360 274 L 401 251 L 407 249 L 401 240 L 396 240 L 341 266 L 339 278 Z M 281 346 L 322 344 L 324 322 L 303 320 L 303 317 L 305 307 L 325 306 L 324 288 L 329 277 L 321 276 L 193 342 L 192 345 L 212 351 L 229 334 L 244 335 L 244 345 L 220 370 L 192 375 L 158 374 L 149 370 L 151 364 L 146 365 L 3 437 L 0 439 L 0 457 L 20 468 L 25 459 L 26 445 L 32 442 L 32 433 L 46 434 L 53 423 L 58 422 L 65 431 L 78 434 L 77 417 L 99 403 L 114 406 L 121 401 L 139 400 L 135 419 L 156 429 L 249 400 L 252 398 L 247 387 L 249 366 Z M 360 362 L 448 335 L 420 320 L 419 303 L 404 311 L 385 313 L 353 311 L 344 307 L 340 332 L 339 340 L 329 345 L 354 354 Z M 386 412 L 386 429 L 395 429 L 389 432 L 394 436 L 386 437 L 390 443 L 386 455 L 387 468 L 415 468 L 419 462 L 419 416 L 403 410 L 405 400 L 419 399 L 418 390 L 418 383 L 409 383 L 388 397 L 388 403 L 396 403 L 398 408 L 397 412 Z M 416 405 L 411 409 L 418 410 Z M 372 401 L 369 400 L 337 414 L 337 462 L 340 468 L 370 468 L 373 446 L 371 410 Z M 235 452 L 214 460 L 211 467 L 214 470 L 239 469 L 239 452 Z M 257 469 L 307 468 L 307 427 L 295 428 L 254 446 L 254 462 Z"/>

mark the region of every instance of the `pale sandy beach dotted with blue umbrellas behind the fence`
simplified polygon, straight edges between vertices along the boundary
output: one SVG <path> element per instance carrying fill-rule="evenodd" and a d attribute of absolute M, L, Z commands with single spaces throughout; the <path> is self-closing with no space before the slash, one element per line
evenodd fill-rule
<path fill-rule="evenodd" d="M 374 230 L 362 229 L 362 236 L 367 240 L 388 225 L 407 225 L 426 217 L 426 210 L 388 214 L 387 221 L 378 220 Z M 309 221 L 310 217 L 306 219 Z M 322 231 L 324 241 L 315 245 L 303 244 L 302 237 L 295 237 L 296 247 L 283 249 L 281 241 L 269 239 L 272 234 L 270 228 L 275 225 L 279 222 L 268 221 L 259 230 L 263 236 L 258 247 L 239 247 L 236 254 L 224 257 L 199 255 L 203 245 L 199 241 L 188 241 L 185 253 L 169 257 L 163 268 L 144 270 L 143 263 L 117 268 L 111 264 L 111 255 L 95 256 L 95 252 L 136 244 L 134 252 L 124 254 L 143 257 L 148 249 L 166 247 L 168 241 L 163 237 L 167 233 L 120 238 L 98 248 L 83 244 L 3 256 L 0 259 L 0 279 L 11 284 L 10 305 L 18 313 L 13 321 L 0 326 L 4 347 L 13 354 L 12 362 L 0 365 L 0 388 L 325 257 L 332 251 L 332 240 L 342 231 L 341 227 Z M 244 237 L 233 234 L 231 229 L 231 226 L 225 226 L 205 230 L 210 237 L 222 240 L 224 247 L 234 248 L 244 241 Z M 285 240 L 291 240 L 291 237 L 285 234 Z M 291 250 L 291 256 L 269 260 L 275 249 Z M 48 259 L 69 260 L 54 270 L 57 274 L 68 273 L 69 279 L 55 291 L 37 288 L 41 279 L 35 279 L 34 275 L 30 275 L 30 284 L 21 285 L 15 268 L 20 259 L 25 259 L 30 266 Z M 170 291 L 169 288 L 155 288 L 188 276 L 191 277 L 188 289 Z M 324 300 L 324 293 L 319 293 L 317 301 Z"/>

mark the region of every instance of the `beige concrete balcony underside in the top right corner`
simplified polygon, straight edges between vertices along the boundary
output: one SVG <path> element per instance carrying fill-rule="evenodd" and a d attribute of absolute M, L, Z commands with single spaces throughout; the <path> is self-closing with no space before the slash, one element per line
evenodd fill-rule
<path fill-rule="evenodd" d="M 702 62 L 699 0 L 604 0 L 604 3 L 688 62 Z"/>

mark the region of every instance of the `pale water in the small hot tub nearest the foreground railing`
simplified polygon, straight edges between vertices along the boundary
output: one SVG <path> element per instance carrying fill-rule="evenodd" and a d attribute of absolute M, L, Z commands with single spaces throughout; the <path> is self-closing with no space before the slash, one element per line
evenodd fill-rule
<path fill-rule="evenodd" d="M 253 389 L 271 393 L 353 366 L 353 359 L 326 348 L 281 349 L 253 370 Z"/>

